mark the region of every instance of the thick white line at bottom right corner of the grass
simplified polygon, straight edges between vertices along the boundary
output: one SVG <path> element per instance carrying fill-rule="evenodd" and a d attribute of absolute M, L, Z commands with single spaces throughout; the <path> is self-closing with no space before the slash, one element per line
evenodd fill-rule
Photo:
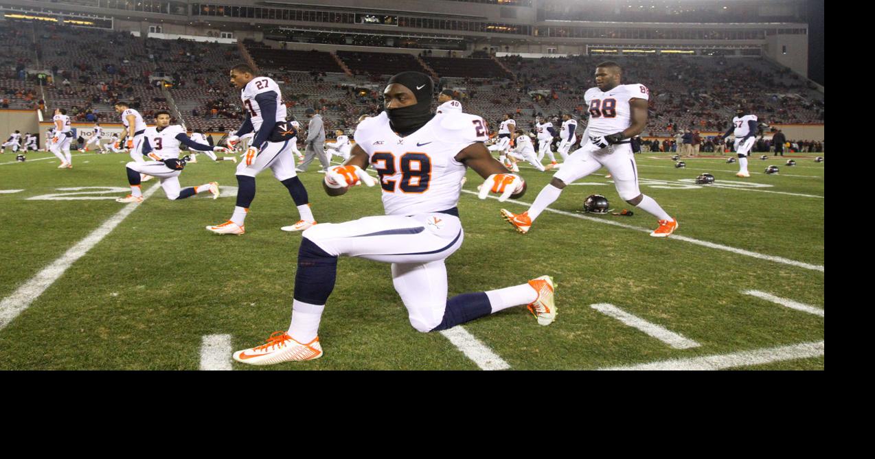
<path fill-rule="evenodd" d="M 754 351 L 733 352 L 694 358 L 673 358 L 641 365 L 612 366 L 599 370 L 723 370 L 739 366 L 766 365 L 784 360 L 814 358 L 823 356 L 823 341 L 793 344 L 789 346 L 757 349 Z"/>

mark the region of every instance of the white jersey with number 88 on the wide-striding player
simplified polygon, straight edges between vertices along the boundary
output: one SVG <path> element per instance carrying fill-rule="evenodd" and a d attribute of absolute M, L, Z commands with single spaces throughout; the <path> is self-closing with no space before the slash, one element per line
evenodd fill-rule
<path fill-rule="evenodd" d="M 608 136 L 626 130 L 632 125 L 632 99 L 650 98 L 650 91 L 644 85 L 619 85 L 610 91 L 602 92 L 591 87 L 584 94 L 584 101 L 590 108 L 590 121 L 587 130 L 590 136 Z"/>

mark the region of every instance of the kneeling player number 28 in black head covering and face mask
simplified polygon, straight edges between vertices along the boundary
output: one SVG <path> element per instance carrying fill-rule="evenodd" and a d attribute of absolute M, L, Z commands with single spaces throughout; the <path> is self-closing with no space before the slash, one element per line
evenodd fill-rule
<path fill-rule="evenodd" d="M 507 289 L 447 299 L 444 260 L 464 239 L 456 205 L 465 167 L 486 177 L 484 198 L 489 191 L 503 193 L 502 199 L 511 193 L 520 197 L 525 183 L 489 155 L 483 145 L 485 122 L 479 116 L 430 113 L 431 87 L 428 75 L 418 72 L 388 80 L 386 110 L 359 124 L 349 161 L 329 168 L 324 182 L 332 196 L 360 181 L 373 184 L 363 170 L 373 164 L 386 215 L 323 223 L 305 231 L 289 330 L 277 331 L 267 344 L 235 352 L 235 360 L 270 365 L 322 357 L 318 326 L 334 289 L 339 256 L 391 263 L 395 290 L 419 331 L 446 330 L 523 304 L 542 325 L 556 318 L 554 285 L 546 275 Z"/>

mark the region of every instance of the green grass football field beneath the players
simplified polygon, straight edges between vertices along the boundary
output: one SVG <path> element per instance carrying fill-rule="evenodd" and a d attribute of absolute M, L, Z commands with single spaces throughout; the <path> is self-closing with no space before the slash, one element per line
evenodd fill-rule
<path fill-rule="evenodd" d="M 617 212 L 629 208 L 602 175 L 606 170 L 569 186 L 552 206 L 570 214 L 544 212 L 525 235 L 514 233 L 499 209 L 522 212 L 527 205 L 479 200 L 472 192 L 481 179 L 469 170 L 465 190 L 472 192 L 463 193 L 458 205 L 465 243 L 447 260 L 450 295 L 548 274 L 558 284 L 559 315 L 556 323 L 542 327 L 526 309 L 508 309 L 464 329 L 516 370 L 699 362 L 706 356 L 737 362 L 720 368 L 823 370 L 823 351 L 784 352 L 797 344 L 817 347 L 813 343 L 823 341 L 823 314 L 744 293 L 766 292 L 823 311 L 823 163 L 810 155 L 796 157 L 798 165 L 787 167 L 786 158 L 760 161 L 756 155 L 752 177 L 741 179 L 734 175 L 738 166 L 725 159 L 684 158 L 687 168 L 678 170 L 669 156 L 636 156 L 641 191 L 681 224 L 678 237 L 665 240 L 636 231 L 656 226 L 643 211 L 632 217 L 577 212 L 592 193 L 605 195 Z M 0 156 L 0 218 L 7 226 L 0 241 L 0 298 L 12 296 L 123 209 L 113 199 L 127 194 L 124 163 L 130 157 L 77 154 L 72 170 L 56 169 L 57 160 L 45 153 L 31 153 L 25 163 L 14 160 L 11 154 Z M 208 181 L 236 185 L 235 164 L 199 160 L 180 177 L 184 187 Z M 779 165 L 781 174 L 763 174 L 768 164 Z M 379 187 L 357 187 L 329 198 L 315 170 L 311 166 L 301 176 L 320 222 L 382 213 Z M 717 177 L 715 185 L 690 184 L 704 171 Z M 521 203 L 528 204 L 552 174 L 526 168 L 521 175 L 528 182 Z M 145 183 L 144 191 L 156 182 Z M 59 191 L 78 187 L 118 190 Z M 21 191 L 9 192 L 14 190 Z M 206 335 L 229 335 L 238 350 L 285 330 L 300 234 L 279 227 L 294 223 L 297 211 L 283 185 L 262 173 L 247 233 L 207 232 L 204 226 L 230 216 L 233 191 L 225 188 L 228 196 L 217 200 L 201 194 L 169 201 L 158 190 L 133 205 L 121 224 L 0 329 L 0 369 L 197 370 Z M 52 194 L 89 199 L 45 196 Z M 673 348 L 591 307 L 598 303 L 698 345 Z M 323 358 L 258 369 L 479 368 L 444 335 L 414 330 L 388 265 L 372 261 L 339 261 L 319 337 Z M 747 358 L 774 349 L 781 351 L 761 352 L 767 356 L 763 360 Z"/>

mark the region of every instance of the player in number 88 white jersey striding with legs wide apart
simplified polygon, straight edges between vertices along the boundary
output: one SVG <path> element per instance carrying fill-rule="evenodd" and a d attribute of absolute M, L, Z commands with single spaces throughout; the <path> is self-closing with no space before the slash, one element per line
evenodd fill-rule
<path fill-rule="evenodd" d="M 620 198 L 654 215 L 659 227 L 651 236 L 666 237 L 677 229 L 677 220 L 669 216 L 653 198 L 638 188 L 638 168 L 629 139 L 641 134 L 648 123 L 648 88 L 644 85 L 620 85 L 620 65 L 613 61 L 598 64 L 596 85 L 584 94 L 590 108 L 586 130 L 589 142 L 568 156 L 547 186 L 538 193 L 527 212 L 514 215 L 501 209 L 504 217 L 520 233 L 528 233 L 532 222 L 548 205 L 559 198 L 563 188 L 605 166 L 613 175 Z M 584 141 L 587 139 L 584 139 Z"/>

